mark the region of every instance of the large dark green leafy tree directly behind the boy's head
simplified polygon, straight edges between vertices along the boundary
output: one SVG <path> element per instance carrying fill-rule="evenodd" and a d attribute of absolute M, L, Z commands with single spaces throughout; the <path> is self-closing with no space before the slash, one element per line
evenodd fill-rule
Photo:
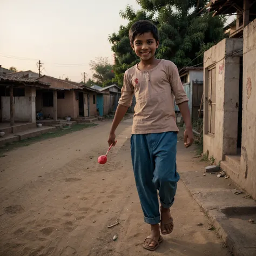
<path fill-rule="evenodd" d="M 135 12 L 131 6 L 120 11 L 128 21 L 120 26 L 118 33 L 109 36 L 116 65 L 113 66 L 118 85 L 123 84 L 125 70 L 139 59 L 129 42 L 131 25 L 141 19 L 148 19 L 157 25 L 160 46 L 157 58 L 172 60 L 178 69 L 187 65 L 203 65 L 203 53 L 225 37 L 225 18 L 212 17 L 212 13 L 201 11 L 207 0 L 137 0 L 141 10 Z"/>

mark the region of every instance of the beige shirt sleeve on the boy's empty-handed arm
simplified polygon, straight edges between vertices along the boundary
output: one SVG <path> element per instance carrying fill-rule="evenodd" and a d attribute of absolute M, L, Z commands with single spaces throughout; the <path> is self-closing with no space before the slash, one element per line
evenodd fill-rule
<path fill-rule="evenodd" d="M 170 83 L 171 83 L 172 92 L 175 97 L 176 104 L 178 105 L 183 102 L 188 102 L 186 92 L 180 80 L 177 66 L 173 64 L 173 66 L 170 66 L 169 70 L 170 70 Z"/>

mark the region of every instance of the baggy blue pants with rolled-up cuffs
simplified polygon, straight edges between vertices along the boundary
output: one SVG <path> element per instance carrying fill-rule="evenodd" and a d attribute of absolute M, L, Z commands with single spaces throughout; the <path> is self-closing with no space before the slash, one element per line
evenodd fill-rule
<path fill-rule="evenodd" d="M 170 208 L 177 190 L 177 132 L 132 134 L 131 156 L 144 220 L 160 222 L 159 204 Z"/>

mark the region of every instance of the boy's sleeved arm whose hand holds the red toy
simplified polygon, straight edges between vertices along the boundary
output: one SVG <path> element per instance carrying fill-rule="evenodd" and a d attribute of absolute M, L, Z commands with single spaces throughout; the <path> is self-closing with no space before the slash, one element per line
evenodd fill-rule
<path fill-rule="evenodd" d="M 129 106 L 132 104 L 132 97 L 133 97 L 133 86 L 130 82 L 128 77 L 127 71 L 124 73 L 124 84 L 121 90 L 121 97 L 119 99 L 119 104 L 117 106 L 116 114 L 114 114 L 114 120 L 110 129 L 109 146 L 111 144 L 116 145 L 116 132 L 117 126 L 120 124 L 121 120 L 123 119 L 125 113 L 127 112 Z"/>

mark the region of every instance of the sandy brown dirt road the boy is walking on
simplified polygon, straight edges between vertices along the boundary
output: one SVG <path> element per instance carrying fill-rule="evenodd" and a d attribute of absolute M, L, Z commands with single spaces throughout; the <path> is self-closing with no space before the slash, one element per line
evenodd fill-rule
<path fill-rule="evenodd" d="M 130 159 L 132 120 L 117 131 L 107 164 L 110 121 L 11 151 L 0 158 L 0 255 L 230 255 L 182 181 L 172 207 L 174 231 L 156 252 L 149 235 Z M 197 171 L 194 153 L 178 143 L 178 170 Z M 119 221 L 120 224 L 107 228 Z M 197 226 L 198 223 L 203 225 Z M 112 238 L 118 235 L 116 241 Z"/>

